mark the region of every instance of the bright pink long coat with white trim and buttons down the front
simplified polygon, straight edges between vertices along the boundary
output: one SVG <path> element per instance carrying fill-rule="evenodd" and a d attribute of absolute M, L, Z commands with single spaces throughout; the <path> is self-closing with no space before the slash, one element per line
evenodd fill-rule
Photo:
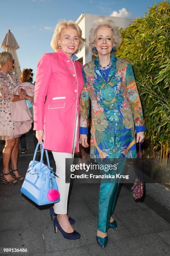
<path fill-rule="evenodd" d="M 33 111 L 34 130 L 44 130 L 46 149 L 72 153 L 82 88 L 80 62 L 73 62 L 62 50 L 42 55 L 37 65 Z M 76 151 L 78 138 L 79 127 Z"/>

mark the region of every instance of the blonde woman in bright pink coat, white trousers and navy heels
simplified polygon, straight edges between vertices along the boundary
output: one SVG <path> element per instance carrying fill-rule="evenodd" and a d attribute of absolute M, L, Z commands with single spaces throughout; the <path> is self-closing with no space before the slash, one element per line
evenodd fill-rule
<path fill-rule="evenodd" d="M 79 151 L 80 93 L 83 88 L 82 64 L 72 60 L 84 46 L 82 31 L 73 21 L 61 21 L 52 36 L 54 53 L 43 54 L 38 65 L 34 98 L 34 130 L 40 144 L 52 151 L 56 163 L 56 182 L 60 202 L 50 208 L 57 228 L 67 239 L 78 239 L 80 234 L 67 215 L 69 183 L 65 183 L 65 159 Z"/>

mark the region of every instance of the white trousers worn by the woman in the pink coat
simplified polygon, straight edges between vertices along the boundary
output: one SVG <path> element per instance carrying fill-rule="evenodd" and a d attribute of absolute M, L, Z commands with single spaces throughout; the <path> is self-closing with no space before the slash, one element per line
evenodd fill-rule
<path fill-rule="evenodd" d="M 74 158 L 74 151 L 77 141 L 77 126 L 78 126 L 78 116 L 76 113 L 75 121 L 75 133 L 74 133 L 74 142 L 73 142 L 73 151 L 72 153 L 56 152 L 52 151 L 55 164 L 56 164 L 56 175 L 55 177 L 58 190 L 60 192 L 60 202 L 54 204 L 54 212 L 56 214 L 67 214 L 67 199 L 70 183 L 65 183 L 65 159 Z"/>

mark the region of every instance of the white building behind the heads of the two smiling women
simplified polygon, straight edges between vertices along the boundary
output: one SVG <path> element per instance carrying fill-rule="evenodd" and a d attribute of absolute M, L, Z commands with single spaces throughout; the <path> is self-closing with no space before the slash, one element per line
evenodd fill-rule
<path fill-rule="evenodd" d="M 80 17 L 76 20 L 77 25 L 82 30 L 82 37 L 86 39 L 85 47 L 76 54 L 77 60 L 80 61 L 83 65 L 86 64 L 89 61 L 92 61 L 93 53 L 89 46 L 89 31 L 92 26 L 92 23 L 95 20 L 98 19 L 105 19 L 109 18 L 110 20 L 114 21 L 115 26 L 118 26 L 119 28 L 126 28 L 130 25 L 130 23 L 133 21 L 133 19 L 129 18 L 119 18 L 119 17 L 112 17 L 112 16 L 100 16 L 100 15 L 91 15 L 82 13 Z"/>

